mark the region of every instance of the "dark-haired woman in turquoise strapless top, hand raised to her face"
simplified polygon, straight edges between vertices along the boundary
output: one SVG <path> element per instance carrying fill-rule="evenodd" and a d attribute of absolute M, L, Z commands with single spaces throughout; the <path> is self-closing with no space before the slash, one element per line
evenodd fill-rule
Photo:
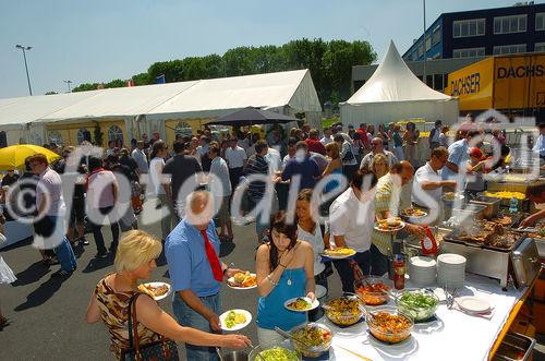
<path fill-rule="evenodd" d="M 306 323 L 306 313 L 289 311 L 283 303 L 295 297 L 315 299 L 312 245 L 298 241 L 298 225 L 288 224 L 280 210 L 271 217 L 270 239 L 257 249 L 257 338 L 259 344 L 281 341 L 283 330 Z"/>

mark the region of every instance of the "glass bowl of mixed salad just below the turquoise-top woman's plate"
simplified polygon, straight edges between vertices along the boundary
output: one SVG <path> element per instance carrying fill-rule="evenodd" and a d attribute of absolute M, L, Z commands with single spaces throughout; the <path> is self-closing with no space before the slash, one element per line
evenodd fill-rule
<path fill-rule="evenodd" d="M 294 339 L 290 339 L 291 346 L 305 358 L 315 359 L 329 350 L 331 346 L 331 330 L 322 324 L 310 323 L 296 326 L 291 332 Z"/>

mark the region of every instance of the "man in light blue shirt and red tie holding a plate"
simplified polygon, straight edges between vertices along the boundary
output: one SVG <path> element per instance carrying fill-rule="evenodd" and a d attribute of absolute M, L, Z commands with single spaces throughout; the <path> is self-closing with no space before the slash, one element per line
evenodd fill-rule
<path fill-rule="evenodd" d="M 169 274 L 175 291 L 172 309 L 181 325 L 220 333 L 221 282 L 240 269 L 219 257 L 220 241 L 213 220 L 214 197 L 197 191 L 187 196 L 185 217 L 165 241 Z M 218 360 L 214 347 L 185 344 L 187 360 Z"/>

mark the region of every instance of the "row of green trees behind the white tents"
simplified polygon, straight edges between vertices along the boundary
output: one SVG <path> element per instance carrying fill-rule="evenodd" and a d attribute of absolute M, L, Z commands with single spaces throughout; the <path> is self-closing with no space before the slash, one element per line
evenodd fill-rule
<path fill-rule="evenodd" d="M 308 69 L 320 103 L 330 100 L 335 108 L 350 96 L 352 67 L 375 60 L 376 53 L 367 41 L 302 38 L 281 46 L 237 47 L 221 57 L 213 53 L 155 62 L 147 72 L 134 75 L 133 81 L 135 85 L 145 85 L 155 84 L 162 74 L 171 83 Z M 97 86 L 97 83 L 81 84 L 73 92 L 94 91 Z M 105 87 L 120 86 L 126 86 L 125 81 L 105 84 Z"/>

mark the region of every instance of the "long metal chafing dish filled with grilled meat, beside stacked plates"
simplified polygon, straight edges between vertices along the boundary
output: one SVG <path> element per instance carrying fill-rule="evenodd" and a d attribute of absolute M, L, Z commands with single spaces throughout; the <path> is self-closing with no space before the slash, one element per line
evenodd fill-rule
<path fill-rule="evenodd" d="M 483 227 L 483 224 L 473 227 Z M 525 234 L 504 228 L 507 238 L 501 242 L 495 243 L 501 237 L 497 234 L 486 242 L 473 242 L 460 238 L 464 228 L 455 229 L 444 237 L 440 253 L 463 255 L 468 260 L 467 272 L 496 278 L 502 288 L 507 288 L 510 277 L 517 287 L 524 287 L 537 276 L 541 268 L 537 248 Z"/>

